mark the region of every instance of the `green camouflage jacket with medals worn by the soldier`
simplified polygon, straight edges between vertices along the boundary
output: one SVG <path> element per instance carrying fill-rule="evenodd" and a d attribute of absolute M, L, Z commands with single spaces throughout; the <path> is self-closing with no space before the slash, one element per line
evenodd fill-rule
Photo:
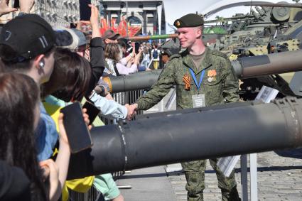
<path fill-rule="evenodd" d="M 199 67 L 195 67 L 188 51 L 173 55 L 170 61 L 163 69 L 158 81 L 151 87 L 151 90 L 139 97 L 137 100 L 138 109 L 149 109 L 170 91 L 173 85 L 176 85 L 176 107 L 185 109 L 193 107 L 192 95 L 198 94 L 198 88 L 195 85 L 190 69 L 195 72 L 197 81 L 205 70 L 203 82 L 201 83 L 199 93 L 205 94 L 205 106 L 223 104 L 224 102 L 237 102 L 239 99 L 238 79 L 234 75 L 234 70 L 227 56 L 206 48 L 205 58 Z M 215 77 L 211 77 L 210 72 L 215 72 Z M 190 76 L 190 89 L 185 89 L 183 76 Z"/>

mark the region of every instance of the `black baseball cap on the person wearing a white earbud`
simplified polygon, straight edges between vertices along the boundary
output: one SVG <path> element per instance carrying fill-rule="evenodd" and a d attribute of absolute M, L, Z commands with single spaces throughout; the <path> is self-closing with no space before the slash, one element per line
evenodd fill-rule
<path fill-rule="evenodd" d="M 2 58 L 7 61 L 32 59 L 55 45 L 68 43 L 72 43 L 68 33 L 55 33 L 50 24 L 36 14 L 17 16 L 6 23 L 0 33 L 0 44 L 8 45 L 17 53 L 14 58 Z"/>

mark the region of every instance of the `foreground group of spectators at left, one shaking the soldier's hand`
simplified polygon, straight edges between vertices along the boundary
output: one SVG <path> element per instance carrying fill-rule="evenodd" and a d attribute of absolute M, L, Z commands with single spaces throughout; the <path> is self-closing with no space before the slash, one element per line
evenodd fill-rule
<path fill-rule="evenodd" d="M 1 1 L 1 14 L 16 11 L 8 3 Z M 95 89 L 104 84 L 100 77 L 105 69 L 99 11 L 90 5 L 87 42 L 81 31 L 51 27 L 29 13 L 33 4 L 20 1 L 20 14 L 1 29 L 0 108 L 7 115 L 1 115 L 0 200 L 68 200 L 68 188 L 85 192 L 93 182 L 104 200 L 124 200 L 112 175 L 66 180 L 71 153 L 60 107 L 85 97 L 111 118 L 129 117 L 129 105 Z M 50 113 L 50 105 L 58 106 L 55 112 Z"/>

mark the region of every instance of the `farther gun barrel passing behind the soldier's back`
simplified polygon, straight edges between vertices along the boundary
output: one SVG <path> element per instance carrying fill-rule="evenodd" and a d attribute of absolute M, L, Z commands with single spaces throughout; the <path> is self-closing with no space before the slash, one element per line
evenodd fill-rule
<path fill-rule="evenodd" d="M 239 79 L 274 75 L 302 70 L 302 50 L 239 58 L 232 61 L 232 67 Z M 126 76 L 105 77 L 110 92 L 127 92 L 149 89 L 158 79 L 161 70 L 138 72 Z"/>

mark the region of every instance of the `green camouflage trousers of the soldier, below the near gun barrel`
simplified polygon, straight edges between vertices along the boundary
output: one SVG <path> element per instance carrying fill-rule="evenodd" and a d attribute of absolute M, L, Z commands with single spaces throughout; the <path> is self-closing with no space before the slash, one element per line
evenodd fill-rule
<path fill-rule="evenodd" d="M 216 172 L 218 187 L 221 189 L 222 200 L 240 200 L 237 192 L 237 183 L 234 178 L 234 170 L 230 177 L 225 177 L 217 167 L 217 158 L 210 159 L 210 164 Z M 206 161 L 190 161 L 181 163 L 185 172 L 187 184 L 185 190 L 188 191 L 188 201 L 203 200 L 203 190 L 205 189 L 205 165 Z"/>

